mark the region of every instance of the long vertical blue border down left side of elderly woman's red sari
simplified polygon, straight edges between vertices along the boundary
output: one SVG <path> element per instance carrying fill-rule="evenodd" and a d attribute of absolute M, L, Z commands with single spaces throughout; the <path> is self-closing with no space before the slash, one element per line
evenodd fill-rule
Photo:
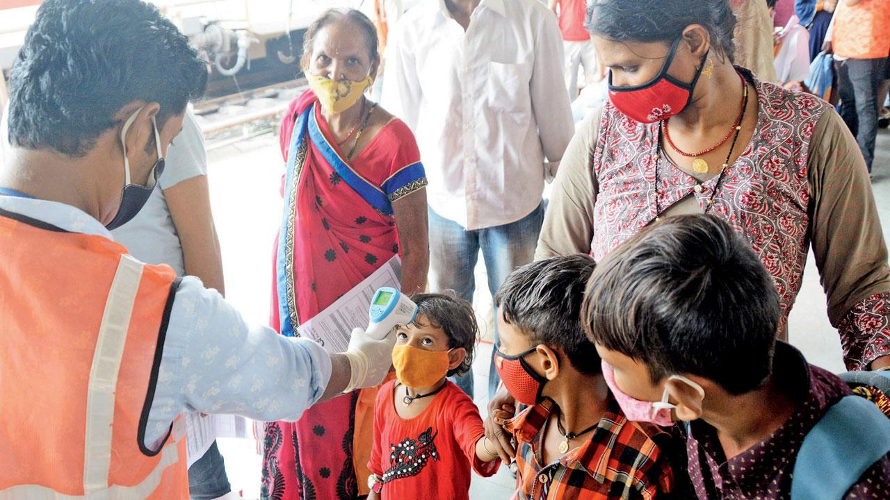
<path fill-rule="evenodd" d="M 303 142 L 303 137 L 306 133 L 306 123 L 307 117 L 309 117 L 309 113 L 312 112 L 313 108 L 306 109 L 303 111 L 303 114 L 297 118 L 296 124 L 294 126 L 294 132 L 291 133 L 290 136 L 290 149 L 287 149 L 287 173 L 285 177 L 285 187 L 284 187 L 284 213 L 281 216 L 281 230 L 279 232 L 279 247 L 278 247 L 278 255 L 276 258 L 276 277 L 275 284 L 276 290 L 278 291 L 279 297 L 279 322 L 281 325 L 281 335 L 285 335 L 288 337 L 292 337 L 295 335 L 294 325 L 290 321 L 290 309 L 287 304 L 287 252 L 285 248 L 287 247 L 287 238 L 290 237 L 287 234 L 287 221 L 290 217 L 290 193 L 294 190 L 294 183 L 298 181 L 296 179 L 296 158 L 299 156 L 297 151 L 300 149 L 300 144 Z"/>

